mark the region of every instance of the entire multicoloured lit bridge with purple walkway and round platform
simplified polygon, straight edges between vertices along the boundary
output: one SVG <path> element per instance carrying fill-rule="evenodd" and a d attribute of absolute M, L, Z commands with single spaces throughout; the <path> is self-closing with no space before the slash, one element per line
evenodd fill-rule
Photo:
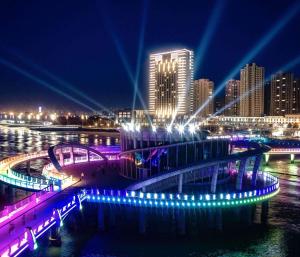
<path fill-rule="evenodd" d="M 67 214 L 80 209 L 85 200 L 100 205 L 98 226 L 101 229 L 105 226 L 105 209 L 110 209 L 109 215 L 114 216 L 115 207 L 125 208 L 124 211 L 135 208 L 139 231 L 145 233 L 150 215 L 147 210 L 154 207 L 167 212 L 176 210 L 176 222 L 184 234 L 188 210 L 207 210 L 220 228 L 222 209 L 239 210 L 239 206 L 261 202 L 265 214 L 266 200 L 279 192 L 278 179 L 259 171 L 263 154 L 270 150 L 265 145 L 239 139 L 230 144 L 245 146 L 247 150 L 231 153 L 227 138 L 217 143 L 214 139 L 201 139 L 168 142 L 169 145 L 160 145 L 159 140 L 156 137 L 157 145 L 148 143 L 147 147 L 140 142 L 140 148 L 127 149 L 118 158 L 115 153 L 111 157 L 86 146 L 62 144 L 48 151 L 3 160 L 1 181 L 35 192 L 0 213 L 0 238 L 5 239 L 0 243 L 0 256 L 17 256 L 27 248 L 34 250 L 38 238 L 48 230 L 57 234 Z M 127 143 L 129 146 L 130 140 Z M 43 168 L 44 179 L 34 180 L 15 170 L 18 164 L 37 158 L 51 161 Z M 63 167 L 68 165 L 96 161 L 105 164 L 112 160 L 125 164 L 120 175 L 131 179 L 127 188 L 88 188 L 78 178 L 63 172 Z M 196 193 L 185 192 L 184 187 L 188 186 L 195 187 Z"/>

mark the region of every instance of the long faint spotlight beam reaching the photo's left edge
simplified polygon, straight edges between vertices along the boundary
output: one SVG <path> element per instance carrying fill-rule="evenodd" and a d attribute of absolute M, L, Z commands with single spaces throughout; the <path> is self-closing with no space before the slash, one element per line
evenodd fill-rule
<path fill-rule="evenodd" d="M 58 93 L 59 95 L 61 96 L 64 96 L 65 98 L 71 100 L 72 102 L 76 103 L 76 104 L 79 104 L 81 105 L 82 107 L 90 110 L 90 111 L 93 111 L 93 112 L 96 112 L 95 109 L 93 109 L 92 107 L 88 106 L 87 104 L 85 103 L 82 103 L 81 101 L 77 100 L 76 98 L 68 95 L 67 93 L 57 89 L 56 87 L 54 87 L 53 85 L 49 84 L 48 82 L 32 75 L 31 73 L 21 69 L 20 67 L 16 66 L 15 64 L 3 59 L 0 57 L 0 63 L 4 66 L 6 66 L 7 68 L 10 68 L 11 70 L 14 70 L 18 73 L 20 73 L 21 75 L 23 75 L 24 77 L 28 78 L 28 79 L 31 79 L 32 81 L 36 82 L 37 84 L 40 84 L 48 89 L 50 89 L 51 91 L 55 92 L 55 93 Z"/>

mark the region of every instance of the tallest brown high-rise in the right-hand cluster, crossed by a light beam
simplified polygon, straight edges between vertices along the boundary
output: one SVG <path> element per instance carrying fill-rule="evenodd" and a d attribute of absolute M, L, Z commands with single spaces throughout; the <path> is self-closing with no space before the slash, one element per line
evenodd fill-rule
<path fill-rule="evenodd" d="M 240 116 L 259 117 L 264 114 L 265 69 L 247 64 L 240 73 Z"/>

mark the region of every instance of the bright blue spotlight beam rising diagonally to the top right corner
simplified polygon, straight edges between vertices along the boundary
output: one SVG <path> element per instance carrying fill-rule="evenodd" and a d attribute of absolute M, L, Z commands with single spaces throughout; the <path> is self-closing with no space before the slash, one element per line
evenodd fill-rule
<path fill-rule="evenodd" d="M 210 99 L 207 99 L 194 113 L 193 116 L 196 116 L 198 113 L 200 113 L 211 101 L 211 99 L 214 99 L 214 97 L 220 93 L 220 91 L 225 87 L 226 82 L 235 77 L 238 72 L 240 71 L 240 68 L 244 66 L 247 62 L 251 61 L 260 51 L 262 51 L 270 42 L 271 40 L 288 24 L 288 22 L 295 17 L 295 15 L 300 10 L 300 3 L 295 3 L 293 6 L 291 6 L 288 11 L 285 13 L 282 19 L 280 19 L 275 26 L 272 27 L 272 29 L 261 39 L 259 42 L 251 49 L 249 53 L 247 53 L 242 60 L 236 65 L 234 69 L 231 70 L 229 75 L 225 77 L 225 79 L 222 81 L 222 83 L 217 87 L 215 92 L 213 93 L 212 97 Z M 186 123 L 190 123 L 192 119 L 190 118 Z"/>

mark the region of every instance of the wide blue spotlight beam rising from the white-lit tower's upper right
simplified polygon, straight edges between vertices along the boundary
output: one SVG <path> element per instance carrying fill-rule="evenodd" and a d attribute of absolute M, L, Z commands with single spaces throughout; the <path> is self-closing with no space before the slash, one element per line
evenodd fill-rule
<path fill-rule="evenodd" d="M 214 35 L 217 25 L 220 21 L 220 17 L 221 17 L 222 11 L 224 9 L 224 6 L 225 6 L 225 1 L 223 1 L 223 0 L 217 0 L 215 3 L 214 9 L 212 11 L 212 14 L 211 14 L 209 21 L 207 23 L 207 26 L 206 26 L 206 30 L 203 34 L 202 40 L 199 43 L 199 46 L 196 50 L 195 71 L 197 71 L 201 68 L 201 64 L 203 62 L 204 55 L 207 51 L 209 43 L 211 42 L 211 39 Z"/>

